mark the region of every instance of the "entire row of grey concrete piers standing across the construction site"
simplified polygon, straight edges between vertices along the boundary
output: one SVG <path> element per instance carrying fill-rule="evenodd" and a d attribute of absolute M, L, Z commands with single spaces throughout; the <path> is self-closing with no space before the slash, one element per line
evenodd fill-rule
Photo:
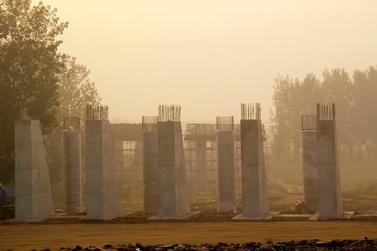
<path fill-rule="evenodd" d="M 334 113 L 325 112 L 329 109 L 322 105 L 317 108 L 315 118 L 302 118 L 304 201 L 312 210 L 318 210 L 322 218 L 339 218 L 342 208 Z M 242 104 L 240 217 L 245 219 L 265 218 L 269 214 L 260 114 L 259 104 Z M 69 121 L 77 124 L 77 120 Z M 145 213 L 158 214 L 163 219 L 190 215 L 180 107 L 160 106 L 158 116 L 145 116 L 142 121 Z M 217 209 L 235 213 L 234 120 L 232 116 L 218 116 L 216 122 Z M 80 123 L 78 129 L 73 123 L 67 123 L 65 128 L 64 204 L 70 205 L 70 211 L 82 211 Z M 113 218 L 121 215 L 121 204 L 108 108 L 87 107 L 85 128 L 87 218 Z M 196 146 L 197 158 L 205 158 L 200 155 L 205 143 L 197 142 Z M 207 188 L 205 170 L 205 165 L 198 165 L 198 178 L 203 181 L 198 181 L 198 190 Z M 36 120 L 15 122 L 15 203 L 16 220 L 49 218 L 54 214 L 45 149 Z"/>

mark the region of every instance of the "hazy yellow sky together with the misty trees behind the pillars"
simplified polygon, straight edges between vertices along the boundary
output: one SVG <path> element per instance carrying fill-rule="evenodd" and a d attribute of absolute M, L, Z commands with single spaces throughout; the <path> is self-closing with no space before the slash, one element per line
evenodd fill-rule
<path fill-rule="evenodd" d="M 239 121 L 241 102 L 260 102 L 269 174 L 300 185 L 300 115 L 334 102 L 342 182 L 377 175 L 375 1 L 43 1 L 57 8 L 56 24 L 43 5 L 33 13 L 29 1 L 14 3 L 0 12 L 3 183 L 14 182 L 24 107 L 41 121 L 51 181 L 62 187 L 63 116 L 84 120 L 85 105 L 100 103 L 111 123 L 181 105 L 185 128 Z"/>

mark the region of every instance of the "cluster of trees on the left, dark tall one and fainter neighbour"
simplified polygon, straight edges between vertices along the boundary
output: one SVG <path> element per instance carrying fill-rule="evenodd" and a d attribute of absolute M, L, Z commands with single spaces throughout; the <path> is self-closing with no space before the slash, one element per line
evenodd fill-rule
<path fill-rule="evenodd" d="M 63 116 L 83 117 L 87 103 L 98 104 L 89 70 L 57 52 L 57 36 L 68 27 L 57 10 L 31 0 L 0 0 L 0 181 L 14 181 L 14 123 L 24 108 L 40 120 L 47 159 L 59 168 Z M 51 170 L 50 170 L 51 171 Z"/>

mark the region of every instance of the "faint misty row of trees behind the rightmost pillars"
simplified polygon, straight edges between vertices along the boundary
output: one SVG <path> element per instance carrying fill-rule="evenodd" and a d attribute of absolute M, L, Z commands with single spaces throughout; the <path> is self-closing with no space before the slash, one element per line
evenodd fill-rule
<path fill-rule="evenodd" d="M 304 79 L 275 78 L 274 111 L 270 114 L 276 155 L 300 160 L 301 114 L 316 114 L 316 103 L 334 102 L 342 158 L 377 157 L 377 67 L 323 71 L 323 79 L 308 74 Z"/>

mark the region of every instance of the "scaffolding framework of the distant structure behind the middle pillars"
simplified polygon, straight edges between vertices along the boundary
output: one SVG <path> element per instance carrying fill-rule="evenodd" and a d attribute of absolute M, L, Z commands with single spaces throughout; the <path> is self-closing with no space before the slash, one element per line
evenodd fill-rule
<path fill-rule="evenodd" d="M 127 125 L 127 124 L 125 124 Z M 119 126 L 119 125 L 117 125 Z M 134 125 L 133 125 L 134 126 Z M 125 126 L 126 128 L 126 126 Z M 140 133 L 142 126 L 140 125 Z M 235 177 L 236 190 L 242 188 L 242 165 L 241 165 L 241 142 L 240 126 L 234 125 L 235 130 Z M 265 131 L 264 131 L 265 132 Z M 186 162 L 186 176 L 189 192 L 197 191 L 196 181 L 198 179 L 198 161 L 205 161 L 207 173 L 207 191 L 217 190 L 217 145 L 216 145 L 216 124 L 188 123 L 186 130 L 182 133 L 184 139 L 184 156 Z M 268 149 L 269 141 L 267 132 L 265 137 L 265 158 L 268 172 Z M 118 181 L 121 187 L 126 187 L 130 182 L 137 183 L 142 187 L 142 142 L 139 140 L 121 141 L 114 140 L 114 155 L 118 171 Z M 205 160 L 197 160 L 196 144 L 202 142 L 205 145 Z M 121 158 L 121 159 L 120 159 Z"/>

